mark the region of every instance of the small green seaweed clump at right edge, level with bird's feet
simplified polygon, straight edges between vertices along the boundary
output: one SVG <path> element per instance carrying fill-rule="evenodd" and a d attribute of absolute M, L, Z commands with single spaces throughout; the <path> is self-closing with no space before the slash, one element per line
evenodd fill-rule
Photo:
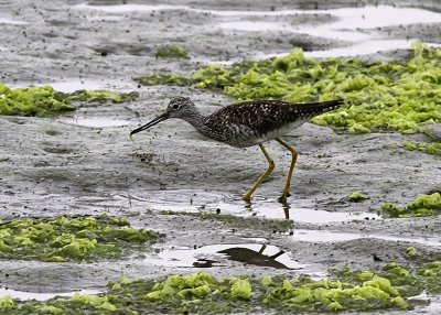
<path fill-rule="evenodd" d="M 441 194 L 420 195 L 404 208 L 391 203 L 384 203 L 381 210 L 383 216 L 388 218 L 438 216 L 441 214 Z"/>

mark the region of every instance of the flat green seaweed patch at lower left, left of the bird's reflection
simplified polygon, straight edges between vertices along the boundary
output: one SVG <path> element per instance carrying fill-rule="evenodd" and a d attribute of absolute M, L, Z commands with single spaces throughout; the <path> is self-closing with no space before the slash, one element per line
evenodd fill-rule
<path fill-rule="evenodd" d="M 160 235 L 133 229 L 125 218 L 55 217 L 17 219 L 0 225 L 0 259 L 93 261 L 117 259 Z"/>

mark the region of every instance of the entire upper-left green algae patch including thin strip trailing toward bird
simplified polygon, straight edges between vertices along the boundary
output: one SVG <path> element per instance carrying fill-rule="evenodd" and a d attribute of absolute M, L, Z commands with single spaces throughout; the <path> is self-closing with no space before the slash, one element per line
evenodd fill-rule
<path fill-rule="evenodd" d="M 9 88 L 0 84 L 0 115 L 50 117 L 75 110 L 75 101 L 122 102 L 137 98 L 137 91 L 117 94 L 110 90 L 77 90 L 72 94 L 54 90 L 50 86 Z"/>

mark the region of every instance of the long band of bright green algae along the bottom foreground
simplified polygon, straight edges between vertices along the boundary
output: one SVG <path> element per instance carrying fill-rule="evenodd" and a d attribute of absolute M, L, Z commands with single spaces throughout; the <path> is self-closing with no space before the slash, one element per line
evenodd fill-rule
<path fill-rule="evenodd" d="M 356 283 L 340 280 L 311 280 L 308 275 L 261 279 L 229 276 L 218 280 L 201 271 L 190 275 L 170 275 L 164 280 L 122 276 L 109 282 L 98 295 L 76 293 L 45 302 L 0 298 L 0 311 L 8 314 L 226 314 L 299 313 L 373 309 L 410 309 L 391 282 L 370 271 L 343 271 L 357 278 Z"/>

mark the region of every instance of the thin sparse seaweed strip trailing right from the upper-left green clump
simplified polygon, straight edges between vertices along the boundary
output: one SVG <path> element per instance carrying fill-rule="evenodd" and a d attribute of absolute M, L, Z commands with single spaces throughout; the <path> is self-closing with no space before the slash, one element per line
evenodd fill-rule
<path fill-rule="evenodd" d="M 133 100 L 139 97 L 138 91 L 120 93 L 117 94 L 112 90 L 76 90 L 71 94 L 65 94 L 68 101 L 87 101 L 87 102 L 123 102 Z"/>

